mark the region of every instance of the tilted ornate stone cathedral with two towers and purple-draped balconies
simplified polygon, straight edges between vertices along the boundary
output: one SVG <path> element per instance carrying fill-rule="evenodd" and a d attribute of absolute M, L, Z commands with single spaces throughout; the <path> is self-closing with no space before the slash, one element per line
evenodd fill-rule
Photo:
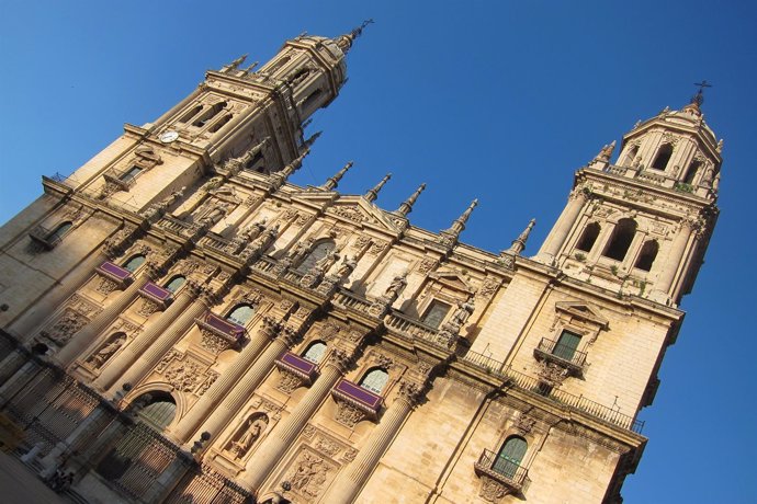
<path fill-rule="evenodd" d="M 93 504 L 622 502 L 719 215 L 701 91 L 488 252 L 476 201 L 287 181 L 363 27 L 206 72 L 0 228 L 5 451 Z"/>

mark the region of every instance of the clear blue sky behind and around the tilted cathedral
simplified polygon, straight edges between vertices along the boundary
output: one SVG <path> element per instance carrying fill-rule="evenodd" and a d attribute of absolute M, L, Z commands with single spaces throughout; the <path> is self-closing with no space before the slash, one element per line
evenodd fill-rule
<path fill-rule="evenodd" d="M 340 188 L 362 193 L 391 171 L 386 208 L 427 182 L 411 218 L 431 230 L 478 197 L 463 239 L 492 251 L 535 217 L 535 253 L 577 168 L 637 119 L 685 105 L 693 82 L 714 84 L 703 111 L 725 139 L 722 214 L 623 495 L 757 502 L 754 2 L 0 0 L 0 222 L 41 194 L 41 175 L 68 174 L 123 123 L 157 118 L 206 69 L 244 53 L 264 61 L 303 31 L 334 36 L 368 18 L 293 182 L 321 183 L 354 159 Z"/>

